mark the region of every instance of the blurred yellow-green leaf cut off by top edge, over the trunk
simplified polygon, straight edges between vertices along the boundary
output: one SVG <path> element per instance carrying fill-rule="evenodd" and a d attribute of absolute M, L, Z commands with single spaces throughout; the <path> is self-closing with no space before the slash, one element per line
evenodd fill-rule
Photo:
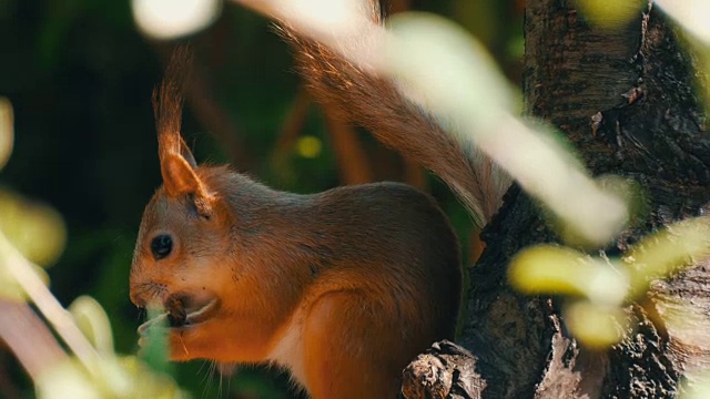
<path fill-rule="evenodd" d="M 701 0 L 702 1 L 702 0 Z M 604 29 L 619 29 L 648 7 L 643 0 L 577 0 L 585 19 Z"/>

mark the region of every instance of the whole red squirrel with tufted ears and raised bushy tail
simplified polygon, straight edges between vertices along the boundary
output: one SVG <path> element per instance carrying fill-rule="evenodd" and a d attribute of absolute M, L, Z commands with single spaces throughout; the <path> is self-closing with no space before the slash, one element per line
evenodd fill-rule
<path fill-rule="evenodd" d="M 477 172 L 480 158 L 392 82 L 284 35 L 316 99 L 438 174 L 477 221 L 495 213 L 490 168 Z M 399 183 L 298 195 L 197 165 L 180 135 L 180 68 L 154 95 L 163 184 L 141 222 L 131 300 L 165 308 L 172 360 L 274 364 L 313 399 L 395 398 L 403 368 L 454 338 L 460 252 L 446 216 Z"/>

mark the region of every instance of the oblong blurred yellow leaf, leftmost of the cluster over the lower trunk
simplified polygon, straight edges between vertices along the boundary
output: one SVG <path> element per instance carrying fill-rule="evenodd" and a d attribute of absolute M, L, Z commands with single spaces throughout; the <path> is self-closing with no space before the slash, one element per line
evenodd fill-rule
<path fill-rule="evenodd" d="M 628 277 L 600 259 L 570 248 L 538 245 L 518 253 L 508 270 L 510 283 L 528 294 L 580 295 L 599 304 L 619 305 Z"/>

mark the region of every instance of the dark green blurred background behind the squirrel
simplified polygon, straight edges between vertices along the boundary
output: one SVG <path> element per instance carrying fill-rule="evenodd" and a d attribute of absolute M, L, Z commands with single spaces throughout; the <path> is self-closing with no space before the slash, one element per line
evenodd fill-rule
<path fill-rule="evenodd" d="M 517 83 L 521 3 L 393 0 L 390 8 L 462 23 Z M 466 258 L 474 256 L 470 222 L 453 195 L 313 104 L 290 49 L 266 20 L 225 3 L 215 23 L 185 40 L 197 66 L 183 135 L 199 162 L 231 162 L 300 193 L 367 181 L 410 183 L 437 197 Z M 54 238 L 57 249 L 34 260 L 47 268 L 64 306 L 85 294 L 104 307 L 121 354 L 136 350 L 141 316 L 129 300 L 129 267 L 143 206 L 161 183 L 151 92 L 174 44 L 142 37 L 128 1 L 0 0 L 0 98 L 14 112 L 13 152 L 0 172 L 0 228 L 12 239 L 13 231 L 22 231 L 12 225 L 16 216 L 38 213 L 38 219 L 64 229 Z M 50 238 L 24 229 L 14 239 L 32 246 Z M 246 368 L 227 380 L 210 364 L 194 361 L 179 365 L 176 380 L 197 398 L 293 397 L 287 379 L 276 375 Z M 1 342 L 0 397 L 33 397 L 30 380 Z"/>

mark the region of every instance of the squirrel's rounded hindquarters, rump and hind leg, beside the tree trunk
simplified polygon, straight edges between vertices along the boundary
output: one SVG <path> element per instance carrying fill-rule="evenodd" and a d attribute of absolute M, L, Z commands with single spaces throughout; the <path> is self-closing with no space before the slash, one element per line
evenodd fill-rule
<path fill-rule="evenodd" d="M 428 195 L 403 184 L 339 187 L 305 201 L 300 242 L 318 260 L 294 265 L 314 279 L 270 360 L 287 366 L 314 398 L 394 398 L 404 367 L 432 342 L 454 338 L 456 236 Z"/>

